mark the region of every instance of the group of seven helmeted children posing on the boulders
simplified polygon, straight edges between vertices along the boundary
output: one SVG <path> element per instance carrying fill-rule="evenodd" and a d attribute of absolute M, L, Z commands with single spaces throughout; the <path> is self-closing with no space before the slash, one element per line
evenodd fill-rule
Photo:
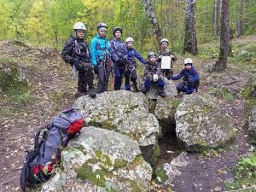
<path fill-rule="evenodd" d="M 160 41 L 161 50 L 158 55 L 154 52 L 148 53 L 148 61 L 139 55 L 133 47 L 133 38 L 126 38 L 122 41 L 122 29 L 113 29 L 113 40 L 107 38 L 108 26 L 105 23 L 97 25 L 96 37 L 91 40 L 90 49 L 84 40 L 86 27 L 84 23 L 78 22 L 74 25 L 74 37 L 70 38 L 61 51 L 64 61 L 73 67 L 74 78 L 79 71 L 78 93 L 79 96 L 86 94 L 87 86 L 89 95 L 95 97 L 96 94 L 108 91 L 109 76 L 114 73 L 114 90 L 120 90 L 122 79 L 125 77 L 125 90 L 139 91 L 137 86 L 137 60 L 144 64 L 144 86 L 143 93 L 150 90 L 151 84 L 158 85 L 160 96 L 165 97 L 164 78 L 178 80 L 183 77 L 183 82 L 177 84 L 177 91 L 191 94 L 194 92 L 196 84 L 199 84 L 199 75 L 193 67 L 191 59 L 185 59 L 183 70 L 176 76 L 172 76 L 172 69 L 161 69 L 160 62 L 163 56 L 170 56 L 172 61 L 177 57 L 168 49 L 169 41 L 163 38 Z M 97 87 L 93 84 L 94 74 L 97 74 Z"/>

